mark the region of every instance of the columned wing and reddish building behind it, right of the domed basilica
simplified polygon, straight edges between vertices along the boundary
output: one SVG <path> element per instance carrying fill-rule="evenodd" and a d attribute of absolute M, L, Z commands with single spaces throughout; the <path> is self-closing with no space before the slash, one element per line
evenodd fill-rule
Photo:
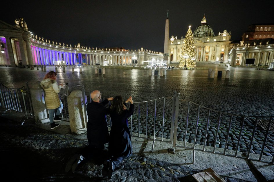
<path fill-rule="evenodd" d="M 242 41 L 230 46 L 230 65 L 256 65 L 273 69 L 274 23 L 249 25 Z"/>

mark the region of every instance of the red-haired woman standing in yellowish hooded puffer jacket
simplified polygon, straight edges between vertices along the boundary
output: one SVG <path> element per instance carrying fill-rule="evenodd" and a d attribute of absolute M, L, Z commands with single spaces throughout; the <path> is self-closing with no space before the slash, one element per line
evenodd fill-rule
<path fill-rule="evenodd" d="M 60 92 L 63 84 L 58 85 L 56 82 L 56 75 L 57 73 L 54 71 L 50 71 L 46 74 L 44 77 L 44 80 L 41 81 L 40 85 L 44 89 L 46 96 L 45 96 L 45 102 L 46 102 L 46 108 L 48 109 L 49 114 L 49 120 L 51 122 L 51 129 L 56 128 L 59 126 L 59 124 L 55 124 L 54 121 L 61 121 L 62 118 L 59 117 L 62 109 L 63 104 L 59 98 L 58 93 Z M 54 110 L 57 108 L 57 112 L 55 117 Z"/>

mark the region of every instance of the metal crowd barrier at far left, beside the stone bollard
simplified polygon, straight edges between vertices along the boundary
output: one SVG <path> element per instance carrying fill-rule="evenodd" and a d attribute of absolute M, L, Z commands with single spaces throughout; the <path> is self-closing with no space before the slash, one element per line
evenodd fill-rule
<path fill-rule="evenodd" d="M 33 115 L 28 85 L 26 88 L 8 88 L 0 85 L 0 113 L 25 114 L 27 119 Z"/>

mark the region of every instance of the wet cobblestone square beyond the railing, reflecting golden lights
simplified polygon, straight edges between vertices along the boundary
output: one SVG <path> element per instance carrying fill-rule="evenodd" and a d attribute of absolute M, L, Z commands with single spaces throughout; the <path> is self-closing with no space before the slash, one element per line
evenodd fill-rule
<path fill-rule="evenodd" d="M 222 115 L 216 147 L 224 148 L 228 133 L 229 114 L 250 116 L 274 115 L 274 71 L 255 70 L 254 68 L 218 67 L 206 65 L 211 69 L 223 72 L 223 78 L 208 78 L 208 70 L 167 70 L 166 76 L 148 76 L 148 70 L 106 70 L 106 75 L 95 76 L 95 68 L 82 68 L 83 73 L 71 73 L 71 68 L 66 72 L 58 69 L 58 82 L 69 83 L 69 90 L 80 90 L 84 86 L 86 95 L 89 91 L 100 90 L 102 96 L 107 98 L 122 95 L 127 98 L 131 95 L 134 102 L 142 102 L 165 97 L 164 126 L 163 126 L 163 100 L 148 103 L 147 124 L 146 105 L 140 104 L 140 128 L 138 128 L 138 109 L 132 117 L 132 131 L 141 134 L 153 135 L 155 122 L 155 135 L 170 138 L 170 119 L 172 108 L 172 93 L 180 92 L 180 114 L 177 140 L 183 141 L 185 136 L 185 121 L 187 113 L 187 100 L 207 108 L 228 113 Z M 47 71 L 55 71 L 55 67 L 47 67 Z M 224 79 L 225 71 L 229 69 L 230 79 Z M 30 86 L 35 81 L 41 80 L 46 72 L 40 70 L 26 70 L 20 68 L 0 68 L 1 83 L 8 87 L 22 87 L 26 81 Z M 89 96 L 88 96 L 89 98 Z M 88 99 L 89 100 L 89 99 Z M 156 111 L 154 106 L 156 105 Z M 138 105 L 135 105 L 138 108 Z M 64 110 L 63 110 L 64 112 Z M 208 110 L 201 108 L 197 128 L 196 144 L 204 144 L 206 133 L 206 120 Z M 156 113 L 156 117 L 154 114 Z M 190 104 L 187 141 L 194 142 L 196 128 L 197 105 Z M 207 133 L 207 146 L 213 146 L 217 134 L 218 112 L 211 111 L 210 123 Z M 247 117 L 243 126 L 240 139 L 241 152 L 247 152 L 254 128 L 255 118 Z M 268 118 L 269 119 L 269 118 Z M 240 135 L 241 118 L 232 119 L 231 130 L 228 137 L 227 149 L 236 150 Z M 109 123 L 110 125 L 110 123 Z M 146 126 L 147 125 L 147 126 Z M 262 151 L 266 131 L 260 126 L 256 127 L 255 138 L 251 153 L 259 154 Z M 270 131 L 264 155 L 273 156 L 274 134 Z"/>

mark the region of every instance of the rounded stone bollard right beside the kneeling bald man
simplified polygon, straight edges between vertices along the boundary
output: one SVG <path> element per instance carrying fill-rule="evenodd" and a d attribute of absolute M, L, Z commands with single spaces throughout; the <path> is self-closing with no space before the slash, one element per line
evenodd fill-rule
<path fill-rule="evenodd" d="M 68 96 L 69 124 L 71 133 L 81 134 L 86 132 L 86 115 L 84 114 L 84 104 L 86 95 L 83 99 L 82 91 L 74 90 Z"/>

